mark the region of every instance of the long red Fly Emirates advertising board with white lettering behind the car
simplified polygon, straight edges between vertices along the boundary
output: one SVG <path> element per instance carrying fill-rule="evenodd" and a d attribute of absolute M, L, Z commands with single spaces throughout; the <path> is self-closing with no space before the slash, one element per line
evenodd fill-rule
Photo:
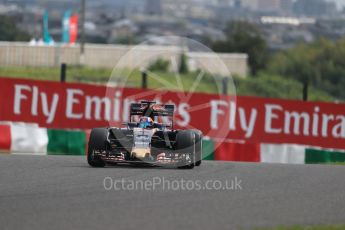
<path fill-rule="evenodd" d="M 120 127 L 130 104 L 145 99 L 175 105 L 174 129 L 200 129 L 219 140 L 345 149 L 344 104 L 7 78 L 0 85 L 0 121 L 57 129 Z"/>

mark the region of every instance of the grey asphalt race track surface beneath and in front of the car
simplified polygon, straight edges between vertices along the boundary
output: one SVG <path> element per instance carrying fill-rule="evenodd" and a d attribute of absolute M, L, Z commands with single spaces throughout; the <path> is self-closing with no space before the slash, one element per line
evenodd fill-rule
<path fill-rule="evenodd" d="M 176 190 L 175 184 L 175 191 L 163 186 L 127 191 L 120 184 L 120 189 L 108 191 L 106 177 L 109 186 L 122 178 L 129 183 L 157 177 L 241 183 L 233 190 L 229 184 L 225 190 Z M 0 155 L 3 230 L 247 229 L 341 223 L 344 166 L 204 162 L 195 170 L 95 169 L 84 157 Z"/>

